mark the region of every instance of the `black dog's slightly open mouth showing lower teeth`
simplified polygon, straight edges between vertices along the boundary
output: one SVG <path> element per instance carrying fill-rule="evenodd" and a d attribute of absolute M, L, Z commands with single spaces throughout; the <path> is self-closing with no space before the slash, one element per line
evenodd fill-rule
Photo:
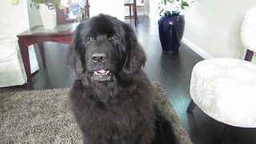
<path fill-rule="evenodd" d="M 114 74 L 110 73 L 110 70 L 102 70 L 102 69 L 95 70 L 91 79 L 93 81 L 110 81 L 110 80 L 115 81 Z"/>

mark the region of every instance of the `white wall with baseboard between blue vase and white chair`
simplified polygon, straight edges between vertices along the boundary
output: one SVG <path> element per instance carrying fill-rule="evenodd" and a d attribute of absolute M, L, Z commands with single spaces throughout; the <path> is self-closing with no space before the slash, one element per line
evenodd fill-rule
<path fill-rule="evenodd" d="M 154 0 L 150 1 L 151 4 Z M 203 58 L 243 58 L 242 20 L 246 10 L 253 6 L 255 0 L 196 1 L 184 12 L 186 25 L 182 41 Z"/>

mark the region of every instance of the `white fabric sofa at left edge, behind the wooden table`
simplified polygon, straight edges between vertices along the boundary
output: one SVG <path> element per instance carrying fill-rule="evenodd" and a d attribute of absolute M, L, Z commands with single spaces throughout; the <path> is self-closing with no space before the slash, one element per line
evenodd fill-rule
<path fill-rule="evenodd" d="M 18 46 L 17 35 L 29 28 L 26 1 L 17 6 L 11 1 L 0 5 L 0 87 L 17 86 L 26 83 L 26 73 Z M 38 70 L 34 46 L 29 47 L 31 72 Z"/>

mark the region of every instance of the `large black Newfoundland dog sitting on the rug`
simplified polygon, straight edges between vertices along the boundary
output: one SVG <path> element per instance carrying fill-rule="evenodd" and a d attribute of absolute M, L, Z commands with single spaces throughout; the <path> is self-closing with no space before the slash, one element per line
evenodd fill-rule
<path fill-rule="evenodd" d="M 70 108 L 86 144 L 176 143 L 154 105 L 142 66 L 146 54 L 133 29 L 110 15 L 81 22 L 69 49 L 75 80 Z"/>

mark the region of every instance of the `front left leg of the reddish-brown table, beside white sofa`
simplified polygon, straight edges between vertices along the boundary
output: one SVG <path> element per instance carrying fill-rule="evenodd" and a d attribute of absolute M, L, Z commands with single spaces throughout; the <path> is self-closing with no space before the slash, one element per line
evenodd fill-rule
<path fill-rule="evenodd" d="M 23 65 L 26 71 L 26 78 L 27 78 L 27 83 L 30 88 L 33 87 L 32 83 L 32 77 L 31 77 L 31 70 L 30 70 L 30 54 L 29 54 L 29 49 L 27 46 L 25 46 L 24 41 L 18 40 L 18 45 L 19 49 L 21 50 L 22 54 L 22 61 Z"/>

